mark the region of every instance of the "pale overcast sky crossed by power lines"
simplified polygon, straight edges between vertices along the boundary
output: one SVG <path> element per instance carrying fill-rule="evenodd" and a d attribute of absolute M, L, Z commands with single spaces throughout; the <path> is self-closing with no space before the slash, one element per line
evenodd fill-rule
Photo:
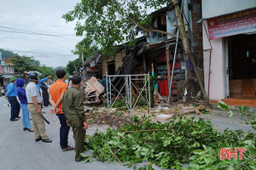
<path fill-rule="evenodd" d="M 20 55 L 33 56 L 47 66 L 66 66 L 77 59 L 71 51 L 81 37 L 75 36 L 73 23 L 61 18 L 80 0 L 0 0 L 0 48 Z M 7 28 L 8 27 L 8 28 Z M 57 37 L 20 34 L 33 31 Z"/>

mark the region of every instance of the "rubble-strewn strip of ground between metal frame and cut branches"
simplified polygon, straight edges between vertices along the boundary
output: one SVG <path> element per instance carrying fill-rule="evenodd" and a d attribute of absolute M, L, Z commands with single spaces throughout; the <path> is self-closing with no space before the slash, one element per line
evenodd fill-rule
<path fill-rule="evenodd" d="M 131 123 L 132 115 L 152 116 L 155 121 L 168 121 L 173 116 L 191 115 L 191 114 L 211 114 L 212 109 L 203 102 L 185 104 L 184 102 L 175 102 L 172 105 L 155 105 L 150 110 L 148 107 L 136 107 L 132 113 L 124 107 L 109 109 L 103 105 L 86 105 L 85 114 L 90 124 L 106 124 L 110 127 L 119 127 L 124 123 Z"/>

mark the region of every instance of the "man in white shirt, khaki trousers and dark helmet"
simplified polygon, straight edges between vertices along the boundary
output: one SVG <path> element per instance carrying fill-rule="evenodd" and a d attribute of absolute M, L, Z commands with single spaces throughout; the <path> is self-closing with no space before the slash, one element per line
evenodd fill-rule
<path fill-rule="evenodd" d="M 34 129 L 35 141 L 38 142 L 42 140 L 45 143 L 51 143 L 45 131 L 44 119 L 41 116 L 41 103 L 43 101 L 42 96 L 38 92 L 37 82 L 38 82 L 38 72 L 30 71 L 26 74 L 26 77 L 30 81 L 26 85 L 26 99 L 27 99 L 27 109 L 32 116 L 32 126 Z"/>

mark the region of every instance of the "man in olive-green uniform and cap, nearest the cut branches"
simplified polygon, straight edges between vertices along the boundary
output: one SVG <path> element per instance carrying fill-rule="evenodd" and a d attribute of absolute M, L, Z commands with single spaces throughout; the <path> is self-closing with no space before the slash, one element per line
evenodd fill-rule
<path fill-rule="evenodd" d="M 85 119 L 83 94 L 80 92 L 82 78 L 72 77 L 72 88 L 69 88 L 62 99 L 62 109 L 67 119 L 67 124 L 73 128 L 73 138 L 75 140 L 75 161 L 81 161 L 80 153 L 84 152 L 84 136 L 88 123 Z"/>

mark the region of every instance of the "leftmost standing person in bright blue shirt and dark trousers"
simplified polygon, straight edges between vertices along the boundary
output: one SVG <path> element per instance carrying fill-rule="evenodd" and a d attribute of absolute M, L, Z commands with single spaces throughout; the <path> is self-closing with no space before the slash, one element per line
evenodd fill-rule
<path fill-rule="evenodd" d="M 10 121 L 18 121 L 16 118 L 20 118 L 20 104 L 17 100 L 17 90 L 15 87 L 16 77 L 11 77 L 9 79 L 9 85 L 7 88 L 6 96 L 8 97 L 9 103 L 11 105 L 11 116 Z"/>

